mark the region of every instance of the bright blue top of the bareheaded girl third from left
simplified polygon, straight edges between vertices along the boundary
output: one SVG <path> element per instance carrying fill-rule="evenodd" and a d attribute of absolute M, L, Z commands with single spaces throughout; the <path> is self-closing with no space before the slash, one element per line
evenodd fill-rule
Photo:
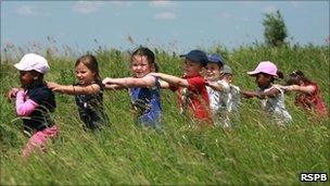
<path fill-rule="evenodd" d="M 155 126 L 160 123 L 162 114 L 158 78 L 153 87 L 130 88 L 130 97 L 132 108 L 137 111 L 137 120 L 139 123 L 148 126 Z"/>

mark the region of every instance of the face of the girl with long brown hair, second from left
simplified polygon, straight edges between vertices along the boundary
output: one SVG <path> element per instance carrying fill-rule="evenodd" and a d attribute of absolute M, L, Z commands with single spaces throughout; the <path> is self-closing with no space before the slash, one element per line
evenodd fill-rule
<path fill-rule="evenodd" d="M 76 66 L 76 78 L 80 85 L 90 85 L 94 80 L 96 73 L 91 72 L 84 63 Z"/>

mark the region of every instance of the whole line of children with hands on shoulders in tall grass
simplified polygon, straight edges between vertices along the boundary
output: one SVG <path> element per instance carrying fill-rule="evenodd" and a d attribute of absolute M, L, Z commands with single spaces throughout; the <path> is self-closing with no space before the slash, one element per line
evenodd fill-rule
<path fill-rule="evenodd" d="M 43 75 L 49 71 L 43 57 L 25 54 L 14 65 L 20 71 L 22 87 L 8 92 L 10 99 L 16 98 L 17 115 L 23 116 L 24 129 L 31 135 L 23 156 L 28 157 L 35 149 L 42 149 L 48 139 L 59 134 L 50 115 L 56 107 L 54 91 L 75 96 L 84 127 L 91 131 L 109 123 L 103 109 L 104 90 L 128 89 L 137 123 L 155 127 L 161 124 L 162 88 L 178 92 L 180 113 L 199 126 L 230 128 L 232 115 L 239 117 L 241 97 L 259 98 L 266 113 L 279 125 L 285 125 L 292 117 L 284 107 L 284 91 L 299 91 L 296 103 L 305 110 L 328 114 L 318 85 L 308 80 L 301 71 L 289 75 L 289 85 L 276 85 L 274 80 L 281 73 L 272 62 L 261 62 L 254 71 L 248 72 L 256 78 L 258 90 L 248 91 L 232 85 L 232 70 L 225 64 L 221 55 L 206 55 L 201 50 L 191 50 L 180 57 L 185 58 L 183 75 L 177 77 L 160 73 L 154 53 L 140 47 L 130 58 L 132 77 L 106 77 L 102 80 L 97 59 L 86 54 L 75 64 L 77 83 L 60 85 L 43 80 Z"/>

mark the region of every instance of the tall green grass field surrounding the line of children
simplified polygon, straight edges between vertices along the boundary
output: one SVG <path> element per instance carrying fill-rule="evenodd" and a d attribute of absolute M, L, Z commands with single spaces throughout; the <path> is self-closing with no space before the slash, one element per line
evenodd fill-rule
<path fill-rule="evenodd" d="M 176 95 L 163 90 L 164 123 L 155 131 L 132 123 L 126 91 L 106 91 L 104 104 L 111 126 L 94 134 L 84 132 L 74 98 L 56 94 L 53 117 L 61 134 L 47 153 L 23 161 L 21 150 L 28 138 L 4 92 L 20 85 L 13 64 L 24 51 L 34 50 L 11 46 L 1 51 L 1 185 L 296 185 L 302 172 L 326 172 L 329 176 L 329 119 L 317 120 L 300 111 L 293 103 L 294 94 L 285 97 L 293 117 L 288 128 L 271 124 L 261 112 L 259 100 L 252 99 L 242 100 L 234 128 L 224 131 L 191 127 L 178 114 Z M 180 53 L 152 50 L 162 72 L 181 75 Z M 203 50 L 221 53 L 233 69 L 234 84 L 245 89 L 256 88 L 246 71 L 259 61 L 275 62 L 284 74 L 300 69 L 319 84 L 330 106 L 329 47 L 275 49 L 255 45 Z M 92 53 L 102 77 L 130 75 L 127 52 L 98 48 Z M 47 48 L 42 54 L 51 66 L 46 80 L 75 82 L 74 63 L 80 53 L 55 54 Z"/>

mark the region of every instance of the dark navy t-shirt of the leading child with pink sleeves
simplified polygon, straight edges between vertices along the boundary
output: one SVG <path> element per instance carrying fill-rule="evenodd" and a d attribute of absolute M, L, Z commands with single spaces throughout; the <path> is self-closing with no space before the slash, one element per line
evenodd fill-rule
<path fill-rule="evenodd" d="M 33 133 L 51 127 L 54 121 L 50 112 L 56 108 L 55 97 L 51 89 L 45 83 L 38 83 L 27 88 L 27 96 L 39 106 L 28 115 L 28 119 L 23 119 L 24 129 Z"/>

